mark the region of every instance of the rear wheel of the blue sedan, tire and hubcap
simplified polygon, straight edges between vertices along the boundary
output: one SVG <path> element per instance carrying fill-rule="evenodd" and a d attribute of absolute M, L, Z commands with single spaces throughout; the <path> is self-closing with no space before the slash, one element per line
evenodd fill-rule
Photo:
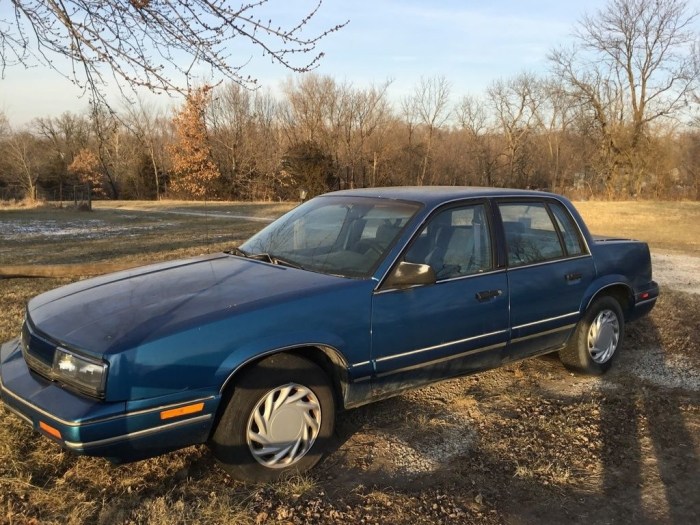
<path fill-rule="evenodd" d="M 603 296 L 588 307 L 559 359 L 568 369 L 581 374 L 607 372 L 620 353 L 625 336 L 625 319 L 620 303 Z"/>

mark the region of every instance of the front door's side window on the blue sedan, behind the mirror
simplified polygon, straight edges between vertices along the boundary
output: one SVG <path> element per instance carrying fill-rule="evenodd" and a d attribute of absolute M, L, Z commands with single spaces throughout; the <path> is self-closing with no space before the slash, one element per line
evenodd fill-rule
<path fill-rule="evenodd" d="M 484 205 L 439 212 L 423 227 L 404 259 L 430 265 L 438 280 L 490 270 L 491 237 Z"/>

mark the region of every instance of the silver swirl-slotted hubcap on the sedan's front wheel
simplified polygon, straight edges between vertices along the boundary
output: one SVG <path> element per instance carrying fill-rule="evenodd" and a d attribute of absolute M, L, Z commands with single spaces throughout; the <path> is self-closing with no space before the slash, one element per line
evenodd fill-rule
<path fill-rule="evenodd" d="M 321 403 L 308 388 L 296 383 L 265 394 L 248 418 L 247 441 L 255 460 L 270 468 L 299 461 L 321 430 Z"/>

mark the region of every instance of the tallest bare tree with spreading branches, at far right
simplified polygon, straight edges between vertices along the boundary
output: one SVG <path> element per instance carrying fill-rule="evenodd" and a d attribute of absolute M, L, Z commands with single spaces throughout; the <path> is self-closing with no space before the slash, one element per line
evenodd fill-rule
<path fill-rule="evenodd" d="M 550 53 L 600 134 L 609 193 L 639 185 L 650 125 L 678 117 L 692 94 L 697 16 L 684 0 L 610 0 L 584 16 L 574 47 Z"/>

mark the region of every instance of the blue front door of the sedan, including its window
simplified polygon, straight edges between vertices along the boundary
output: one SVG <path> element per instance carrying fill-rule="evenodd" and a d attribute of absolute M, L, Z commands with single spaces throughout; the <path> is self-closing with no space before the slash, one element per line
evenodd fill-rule
<path fill-rule="evenodd" d="M 430 265 L 435 284 L 379 289 L 372 299 L 375 395 L 500 363 L 508 282 L 495 267 L 485 202 L 433 215 L 402 260 Z"/>

